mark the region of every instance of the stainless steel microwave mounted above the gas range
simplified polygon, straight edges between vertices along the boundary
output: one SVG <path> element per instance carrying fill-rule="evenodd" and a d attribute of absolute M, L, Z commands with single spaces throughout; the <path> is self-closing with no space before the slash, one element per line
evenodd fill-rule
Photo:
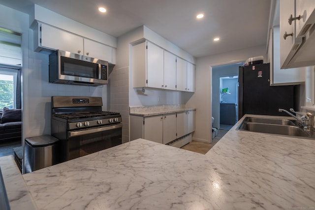
<path fill-rule="evenodd" d="M 88 86 L 108 84 L 108 62 L 57 50 L 49 55 L 49 82 Z"/>

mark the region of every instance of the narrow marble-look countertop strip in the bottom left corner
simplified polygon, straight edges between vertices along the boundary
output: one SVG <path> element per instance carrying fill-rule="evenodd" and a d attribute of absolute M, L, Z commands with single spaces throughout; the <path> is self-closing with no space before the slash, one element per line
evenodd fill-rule
<path fill-rule="evenodd" d="M 0 157 L 0 167 L 11 210 L 36 210 L 31 193 L 12 155 Z"/>

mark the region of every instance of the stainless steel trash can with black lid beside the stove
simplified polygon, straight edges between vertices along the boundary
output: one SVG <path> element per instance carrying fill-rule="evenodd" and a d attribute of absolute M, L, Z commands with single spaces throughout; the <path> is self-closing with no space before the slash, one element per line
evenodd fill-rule
<path fill-rule="evenodd" d="M 50 136 L 34 136 L 25 139 L 25 173 L 59 163 L 59 139 Z"/>

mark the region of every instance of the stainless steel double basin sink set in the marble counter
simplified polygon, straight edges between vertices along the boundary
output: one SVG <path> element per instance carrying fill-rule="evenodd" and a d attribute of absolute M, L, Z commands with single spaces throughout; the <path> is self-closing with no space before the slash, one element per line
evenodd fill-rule
<path fill-rule="evenodd" d="M 301 128 L 297 120 L 246 117 L 237 130 L 315 139 L 313 129 Z"/>

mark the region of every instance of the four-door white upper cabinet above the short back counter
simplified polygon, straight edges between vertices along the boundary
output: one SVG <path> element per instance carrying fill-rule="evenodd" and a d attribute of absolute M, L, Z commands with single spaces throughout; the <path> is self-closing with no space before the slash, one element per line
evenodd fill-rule
<path fill-rule="evenodd" d="M 133 88 L 194 91 L 194 65 L 146 41 L 132 46 Z"/>

